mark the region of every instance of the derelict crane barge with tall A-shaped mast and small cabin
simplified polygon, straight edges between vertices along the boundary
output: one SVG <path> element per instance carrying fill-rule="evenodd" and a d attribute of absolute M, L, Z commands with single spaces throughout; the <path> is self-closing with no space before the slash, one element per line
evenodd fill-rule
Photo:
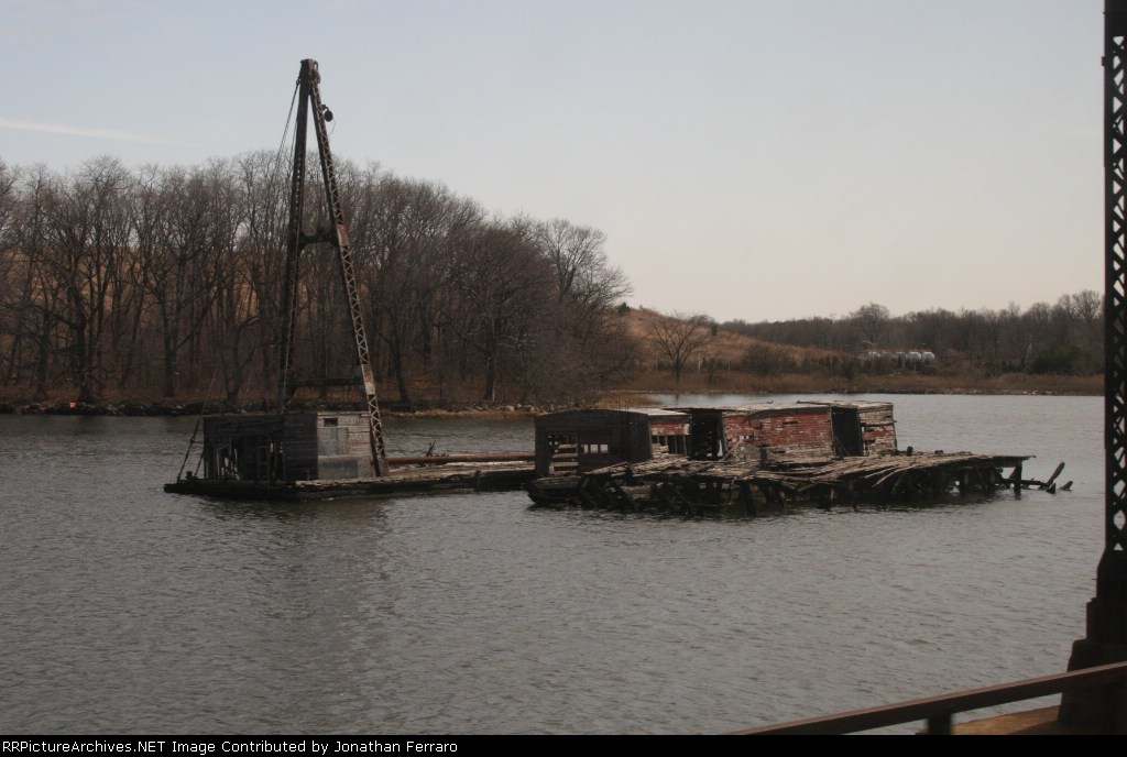
<path fill-rule="evenodd" d="M 517 489 L 533 475 L 529 455 L 451 456 L 426 461 L 388 458 L 362 317 L 364 308 L 326 130 L 326 122 L 331 115 L 321 103 L 320 81 L 317 61 L 302 61 L 294 92 L 298 107 L 290 177 L 276 411 L 203 419 L 202 473 L 196 470 L 185 472 L 195 443 L 193 435 L 176 481 L 166 484 L 165 490 L 237 499 L 286 500 L 449 489 Z M 321 164 L 321 198 L 327 223 L 322 221 L 316 232 L 307 233 L 303 231 L 303 198 L 309 172 L 305 137 L 310 115 Z M 307 246 L 321 243 L 332 246 L 339 265 L 355 347 L 354 369 L 348 380 L 300 382 L 293 374 L 301 252 Z M 352 413 L 326 413 L 300 412 L 290 407 L 298 386 L 331 384 L 355 385 L 365 409 Z M 428 467 L 392 471 L 397 462 L 400 465 L 426 463 Z M 429 466 L 434 464 L 441 467 Z"/>

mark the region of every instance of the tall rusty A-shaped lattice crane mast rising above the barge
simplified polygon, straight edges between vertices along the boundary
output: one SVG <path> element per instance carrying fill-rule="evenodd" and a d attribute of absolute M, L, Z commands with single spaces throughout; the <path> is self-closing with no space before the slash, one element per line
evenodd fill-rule
<path fill-rule="evenodd" d="M 367 349 L 367 337 L 364 332 L 364 319 L 361 313 L 360 290 L 356 286 L 356 274 L 353 266 L 352 247 L 348 243 L 348 229 L 345 225 L 344 213 L 340 210 L 340 192 L 337 185 L 337 172 L 332 164 L 332 153 L 329 150 L 329 135 L 325 122 L 332 116 L 321 104 L 321 74 L 317 61 L 307 59 L 301 62 L 298 74 L 298 116 L 294 125 L 293 176 L 290 185 L 290 225 L 286 234 L 285 258 L 285 303 L 284 331 L 278 365 L 278 412 L 285 413 L 293 394 L 293 337 L 298 313 L 298 268 L 301 251 L 307 244 L 329 242 L 337 252 L 340 265 L 340 280 L 348 300 L 348 311 L 352 315 L 353 341 L 356 348 L 356 380 L 367 402 L 369 440 L 372 448 L 372 471 L 375 475 L 388 474 L 388 454 L 383 440 L 383 425 L 380 422 L 380 406 L 375 397 L 375 377 L 372 373 L 372 360 Z M 313 234 L 307 234 L 301 229 L 301 216 L 305 189 L 305 133 L 308 131 L 309 112 L 313 113 L 313 131 L 317 133 L 317 151 L 321 159 L 321 177 L 325 180 L 325 197 L 329 212 L 329 229 Z"/>

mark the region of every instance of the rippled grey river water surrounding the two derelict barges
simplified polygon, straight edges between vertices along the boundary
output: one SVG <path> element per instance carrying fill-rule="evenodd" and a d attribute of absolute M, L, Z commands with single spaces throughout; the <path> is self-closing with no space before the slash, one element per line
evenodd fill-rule
<path fill-rule="evenodd" d="M 0 417 L 0 732 L 717 732 L 1062 671 L 1102 400 L 864 399 L 902 448 L 1065 461 L 1074 490 L 706 519 L 247 505 L 161 491 L 190 419 Z M 532 444 L 530 420 L 387 427 L 391 454 Z"/>

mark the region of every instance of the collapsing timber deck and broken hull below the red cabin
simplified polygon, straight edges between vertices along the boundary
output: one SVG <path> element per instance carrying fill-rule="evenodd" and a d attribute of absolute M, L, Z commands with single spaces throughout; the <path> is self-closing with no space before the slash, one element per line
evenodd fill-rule
<path fill-rule="evenodd" d="M 758 461 L 690 461 L 663 456 L 622 463 L 578 475 L 538 479 L 529 495 L 538 505 L 578 505 L 611 509 L 656 509 L 696 514 L 728 504 L 749 511 L 781 508 L 797 500 L 822 506 L 885 505 L 960 493 L 1013 489 L 1030 484 L 1021 471 L 1029 456 L 973 453 L 915 453 L 845 457 L 764 467 Z M 1012 469 L 1003 477 L 1004 469 Z M 1056 472 L 1054 478 L 1059 474 Z"/>

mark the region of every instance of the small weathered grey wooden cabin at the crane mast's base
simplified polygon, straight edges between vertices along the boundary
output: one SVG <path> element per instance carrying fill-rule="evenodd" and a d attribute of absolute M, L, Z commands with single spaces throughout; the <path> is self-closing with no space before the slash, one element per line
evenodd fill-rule
<path fill-rule="evenodd" d="M 364 413 L 204 418 L 205 480 L 265 483 L 372 478 Z"/>

